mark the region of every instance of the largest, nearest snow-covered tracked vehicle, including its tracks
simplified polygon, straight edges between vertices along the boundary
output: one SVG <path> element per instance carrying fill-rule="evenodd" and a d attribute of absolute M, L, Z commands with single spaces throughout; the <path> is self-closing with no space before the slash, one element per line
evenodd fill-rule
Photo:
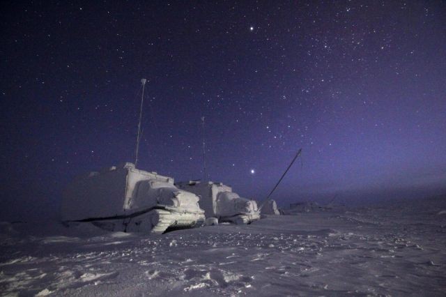
<path fill-rule="evenodd" d="M 163 233 L 202 224 L 198 202 L 174 178 L 125 163 L 75 178 L 63 193 L 61 215 L 64 222 L 93 222 L 109 231 Z"/>

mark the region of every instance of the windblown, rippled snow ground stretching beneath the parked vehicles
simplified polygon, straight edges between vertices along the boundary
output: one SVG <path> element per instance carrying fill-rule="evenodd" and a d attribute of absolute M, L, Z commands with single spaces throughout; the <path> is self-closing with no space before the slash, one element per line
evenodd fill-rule
<path fill-rule="evenodd" d="M 445 296 L 445 199 L 163 235 L 0 224 L 3 296 Z"/>

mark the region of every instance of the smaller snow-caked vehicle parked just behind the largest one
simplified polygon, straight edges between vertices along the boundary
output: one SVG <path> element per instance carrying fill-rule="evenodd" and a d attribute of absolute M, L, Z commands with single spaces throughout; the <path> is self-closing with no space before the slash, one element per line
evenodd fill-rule
<path fill-rule="evenodd" d="M 176 186 L 199 195 L 199 204 L 205 211 L 206 218 L 236 224 L 247 224 L 260 218 L 256 201 L 240 197 L 223 183 L 186 181 L 176 183 Z"/>

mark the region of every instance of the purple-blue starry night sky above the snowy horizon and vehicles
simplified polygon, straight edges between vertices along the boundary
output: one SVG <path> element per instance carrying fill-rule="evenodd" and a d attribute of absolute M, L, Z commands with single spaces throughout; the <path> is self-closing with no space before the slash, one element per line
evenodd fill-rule
<path fill-rule="evenodd" d="M 2 218 L 134 161 L 263 199 L 446 190 L 445 1 L 8 1 Z M 254 170 L 254 174 L 252 173 Z M 55 212 L 53 212 L 54 214 Z"/>

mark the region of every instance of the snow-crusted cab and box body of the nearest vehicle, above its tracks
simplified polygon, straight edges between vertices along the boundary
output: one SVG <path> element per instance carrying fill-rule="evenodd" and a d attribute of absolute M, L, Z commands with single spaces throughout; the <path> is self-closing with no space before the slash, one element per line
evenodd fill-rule
<path fill-rule="evenodd" d="M 64 221 L 126 216 L 160 207 L 201 214 L 198 201 L 197 195 L 176 188 L 173 178 L 125 163 L 76 178 L 64 191 L 61 214 Z"/>

